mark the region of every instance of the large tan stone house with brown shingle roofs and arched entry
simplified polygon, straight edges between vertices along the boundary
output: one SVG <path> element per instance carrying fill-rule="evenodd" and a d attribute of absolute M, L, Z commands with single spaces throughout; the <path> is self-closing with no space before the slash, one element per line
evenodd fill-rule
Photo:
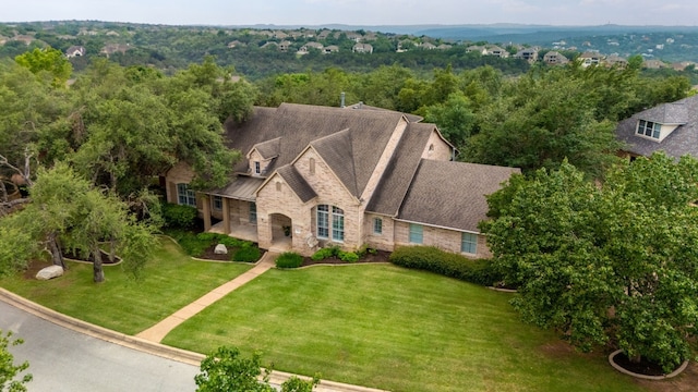
<path fill-rule="evenodd" d="M 167 200 L 196 206 L 206 230 L 262 248 L 424 244 L 490 257 L 478 230 L 485 195 L 519 170 L 453 161 L 454 147 L 421 120 L 365 105 L 257 107 L 226 124 L 228 146 L 243 156 L 230 183 L 194 193 L 180 163 L 164 179 Z"/>

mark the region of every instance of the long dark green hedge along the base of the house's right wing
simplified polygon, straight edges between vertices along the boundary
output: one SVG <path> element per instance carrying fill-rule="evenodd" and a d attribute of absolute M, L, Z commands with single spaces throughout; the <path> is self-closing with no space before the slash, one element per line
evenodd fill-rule
<path fill-rule="evenodd" d="M 401 246 L 389 258 L 396 266 L 431 271 L 481 285 L 502 281 L 490 260 L 469 259 L 434 246 Z"/>

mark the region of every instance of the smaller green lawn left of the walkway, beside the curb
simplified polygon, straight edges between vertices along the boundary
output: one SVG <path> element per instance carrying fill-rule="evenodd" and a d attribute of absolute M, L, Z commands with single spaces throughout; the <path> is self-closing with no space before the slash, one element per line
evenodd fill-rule
<path fill-rule="evenodd" d="M 167 238 L 161 240 L 139 281 L 127 277 L 119 266 L 107 266 L 106 282 L 96 284 L 92 265 L 68 265 L 61 278 L 37 281 L 20 274 L 0 279 L 0 286 L 65 315 L 136 334 L 251 268 L 192 260 Z"/>

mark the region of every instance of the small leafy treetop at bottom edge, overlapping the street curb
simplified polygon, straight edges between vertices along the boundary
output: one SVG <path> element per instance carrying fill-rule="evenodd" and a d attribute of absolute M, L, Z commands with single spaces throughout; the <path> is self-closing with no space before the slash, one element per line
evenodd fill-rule
<path fill-rule="evenodd" d="M 270 370 L 262 372 L 262 357 L 254 353 L 242 358 L 236 347 L 221 346 L 201 362 L 201 372 L 194 377 L 197 392 L 272 392 Z M 282 392 L 312 392 L 320 379 L 301 380 L 291 377 L 281 384 Z"/>

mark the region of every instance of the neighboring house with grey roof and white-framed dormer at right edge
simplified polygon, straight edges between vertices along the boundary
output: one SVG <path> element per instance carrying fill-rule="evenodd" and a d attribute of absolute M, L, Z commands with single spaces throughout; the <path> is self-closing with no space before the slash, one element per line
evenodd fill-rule
<path fill-rule="evenodd" d="M 662 103 L 623 120 L 616 127 L 624 143 L 622 155 L 649 157 L 662 150 L 679 158 L 698 158 L 698 95 L 671 103 Z"/>

